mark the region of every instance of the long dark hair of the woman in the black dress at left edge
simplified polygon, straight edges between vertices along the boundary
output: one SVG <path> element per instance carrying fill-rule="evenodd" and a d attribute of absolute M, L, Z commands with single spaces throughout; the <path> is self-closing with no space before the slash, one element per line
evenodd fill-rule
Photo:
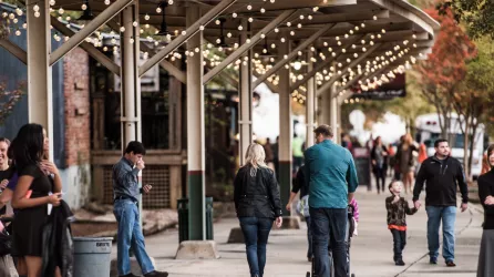
<path fill-rule="evenodd" d="M 43 126 L 35 123 L 25 124 L 19 130 L 14 141 L 11 147 L 19 172 L 41 161 L 44 144 Z"/>

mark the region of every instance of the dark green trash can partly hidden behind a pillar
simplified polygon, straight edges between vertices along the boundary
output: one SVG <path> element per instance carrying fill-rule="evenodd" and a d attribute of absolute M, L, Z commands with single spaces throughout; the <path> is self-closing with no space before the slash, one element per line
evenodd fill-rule
<path fill-rule="evenodd" d="M 213 197 L 206 197 L 206 239 L 214 239 L 213 230 Z M 178 243 L 188 240 L 188 198 L 177 201 Z"/>

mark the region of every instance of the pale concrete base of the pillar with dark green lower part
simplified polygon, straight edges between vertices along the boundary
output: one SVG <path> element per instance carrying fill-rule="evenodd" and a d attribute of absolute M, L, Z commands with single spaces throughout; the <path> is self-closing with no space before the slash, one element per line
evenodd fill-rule
<path fill-rule="evenodd" d="M 185 240 L 178 246 L 176 259 L 217 259 L 215 240 Z"/>

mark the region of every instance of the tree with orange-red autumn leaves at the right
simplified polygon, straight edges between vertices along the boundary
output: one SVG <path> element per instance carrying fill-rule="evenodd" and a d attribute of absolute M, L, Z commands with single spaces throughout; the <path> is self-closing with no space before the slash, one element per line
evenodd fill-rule
<path fill-rule="evenodd" d="M 464 135 L 464 165 L 471 172 L 476 131 L 494 116 L 488 106 L 494 96 L 494 49 L 488 37 L 475 41 L 459 24 L 457 14 L 444 2 L 426 12 L 441 23 L 432 53 L 416 66 L 414 80 L 440 115 L 442 136 L 449 137 L 449 114 L 455 112 Z M 438 9 L 440 7 L 440 9 Z"/>

